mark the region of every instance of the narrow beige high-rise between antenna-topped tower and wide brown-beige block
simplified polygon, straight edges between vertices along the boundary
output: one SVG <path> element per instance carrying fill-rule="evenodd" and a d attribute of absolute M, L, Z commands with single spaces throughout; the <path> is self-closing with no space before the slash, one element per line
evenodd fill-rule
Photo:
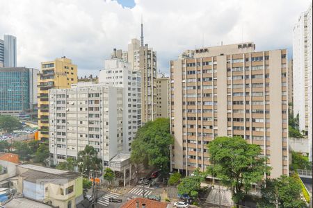
<path fill-rule="evenodd" d="M 170 78 L 161 75 L 157 83 L 157 118 L 170 117 Z"/>

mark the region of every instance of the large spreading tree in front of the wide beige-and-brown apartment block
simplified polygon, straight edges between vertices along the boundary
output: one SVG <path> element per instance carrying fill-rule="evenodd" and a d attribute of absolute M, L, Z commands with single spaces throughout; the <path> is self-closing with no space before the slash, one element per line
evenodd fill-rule
<path fill-rule="evenodd" d="M 211 166 L 209 174 L 220 178 L 232 190 L 234 202 L 240 202 L 253 183 L 262 181 L 269 171 L 261 148 L 241 137 L 216 137 L 208 144 Z M 245 192 L 244 192 L 245 191 Z"/>

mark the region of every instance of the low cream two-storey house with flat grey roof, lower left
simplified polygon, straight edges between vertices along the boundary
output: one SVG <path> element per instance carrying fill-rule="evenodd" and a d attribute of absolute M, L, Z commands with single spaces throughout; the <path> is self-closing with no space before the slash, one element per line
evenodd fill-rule
<path fill-rule="evenodd" d="M 25 198 L 60 208 L 77 207 L 83 200 L 83 177 L 80 173 L 22 164 L 17 166 L 16 175 L 14 188 Z"/>

